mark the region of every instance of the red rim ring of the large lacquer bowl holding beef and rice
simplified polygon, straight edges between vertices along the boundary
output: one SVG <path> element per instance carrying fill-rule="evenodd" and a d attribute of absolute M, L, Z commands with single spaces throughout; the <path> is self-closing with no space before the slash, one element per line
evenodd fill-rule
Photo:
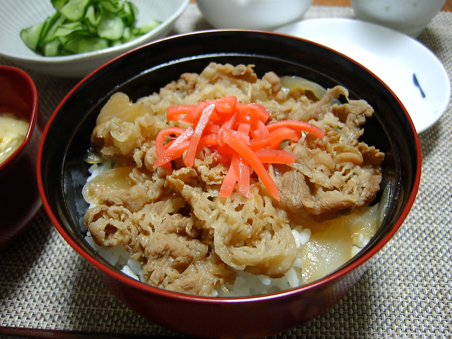
<path fill-rule="evenodd" d="M 215 32 L 215 31 L 229 31 L 229 30 L 207 30 L 207 31 L 199 31 L 199 32 L 195 32 L 195 33 L 189 33 L 189 34 L 180 34 L 180 35 L 176 35 L 176 36 L 171 36 L 171 37 L 167 37 L 167 38 L 163 38 L 163 39 L 159 39 L 156 40 L 148 45 L 152 45 L 152 44 L 156 44 L 160 41 L 164 41 L 164 40 L 168 40 L 168 39 L 172 39 L 175 37 L 180 37 L 180 36 L 184 36 L 184 35 L 191 35 L 191 34 L 199 34 L 199 33 L 206 33 L 206 32 Z M 245 32 L 260 32 L 260 31 L 255 31 L 255 30 L 235 30 L 235 31 L 245 31 Z M 266 32 L 269 33 L 269 32 Z M 135 48 L 133 50 L 130 50 L 114 59 L 111 59 L 110 61 L 106 62 L 105 64 L 103 64 L 102 66 L 98 67 L 97 69 L 93 70 L 91 73 L 89 73 L 87 76 L 85 76 L 82 80 L 80 80 L 80 82 L 78 82 L 68 93 L 67 95 L 61 100 L 61 102 L 58 104 L 58 106 L 55 108 L 52 116 L 50 117 L 45 130 L 43 132 L 42 135 L 42 139 L 41 142 L 39 144 L 39 150 L 38 150 L 38 157 L 37 157 L 37 176 L 38 176 L 38 187 L 39 187 L 39 192 L 41 194 L 41 199 L 43 201 L 43 205 L 44 208 L 47 211 L 47 214 L 49 215 L 49 218 L 51 219 L 52 223 L 54 224 L 55 228 L 58 230 L 58 232 L 60 233 L 60 235 L 65 239 L 65 241 L 79 254 L 81 255 L 84 259 L 86 259 L 91 265 L 93 265 L 95 268 L 97 268 L 98 270 L 102 271 L 104 274 L 110 276 L 111 278 L 114 278 L 115 280 L 120 281 L 121 283 L 124 283 L 126 285 L 129 285 L 130 287 L 139 289 L 141 291 L 144 292 L 149 292 L 152 294 L 156 294 L 159 296 L 163 296 L 163 297 L 167 297 L 167 298 L 172 298 L 172 299 L 176 299 L 176 300 L 185 300 L 185 301 L 190 301 L 190 302 L 197 302 L 197 303 L 211 303 L 211 304 L 217 304 L 217 303 L 243 303 L 243 302 L 252 302 L 252 301 L 262 301 L 262 300 L 270 300 L 270 299 L 275 299 L 275 298 L 282 298 L 282 297 L 286 297 L 286 296 L 290 296 L 293 294 L 298 294 L 304 291 L 308 291 L 311 290 L 319 285 L 324 285 L 327 284 L 337 278 L 340 278 L 344 275 L 346 275 L 347 273 L 355 270 L 356 268 L 358 268 L 359 266 L 361 266 L 362 264 L 364 264 L 366 261 L 368 261 L 371 257 L 373 257 L 378 251 L 380 251 L 384 245 L 386 245 L 386 243 L 394 236 L 394 234 L 399 230 L 399 228 L 401 227 L 402 223 L 404 222 L 406 216 L 408 215 L 414 201 L 416 198 L 416 194 L 418 191 L 418 187 L 419 187 L 419 183 L 420 183 L 420 174 L 421 174 L 421 149 L 420 149 L 420 143 L 419 143 L 419 138 L 418 135 L 416 133 L 416 130 L 414 128 L 414 124 L 407 112 L 407 110 L 405 109 L 404 105 L 402 104 L 402 102 L 399 100 L 399 98 L 394 94 L 394 92 L 378 77 L 376 76 L 372 71 L 370 71 L 369 69 L 367 69 L 366 67 L 364 67 L 363 65 L 361 65 L 360 63 L 356 62 L 355 60 L 351 59 L 350 57 L 337 52 L 329 47 L 326 47 L 324 45 L 306 40 L 306 39 L 302 39 L 302 38 L 297 38 L 297 37 L 292 37 L 289 35 L 285 35 L 285 34 L 281 34 L 281 33 L 272 33 L 272 34 L 276 34 L 276 35 L 281 35 L 281 36 L 287 36 L 287 37 L 291 37 L 294 39 L 299 39 L 299 40 L 304 40 L 307 41 L 309 43 L 318 45 L 318 46 L 322 46 L 324 48 L 327 48 L 331 51 L 333 51 L 334 53 L 340 54 L 343 57 L 346 57 L 347 59 L 353 61 L 354 63 L 356 63 L 357 65 L 359 65 L 360 67 L 366 69 L 369 73 L 372 74 L 372 76 L 374 76 L 376 79 L 378 79 L 387 89 L 388 91 L 391 92 L 391 94 L 394 96 L 394 98 L 396 98 L 397 102 L 399 103 L 399 105 L 403 108 L 403 111 L 405 113 L 405 116 L 407 117 L 409 123 L 410 123 L 410 127 L 411 130 L 413 132 L 414 135 L 414 139 L 415 139 L 415 143 L 416 143 L 416 150 L 417 150 L 417 165 L 416 165 L 416 177 L 414 179 L 414 183 L 413 183 L 413 188 L 411 190 L 410 196 L 407 200 L 407 203 L 405 205 L 405 207 L 403 208 L 403 210 L 400 213 L 400 216 L 398 217 L 398 219 L 396 220 L 395 224 L 393 225 L 393 227 L 391 228 L 391 231 L 384 237 L 382 238 L 380 241 L 378 241 L 378 243 L 376 243 L 371 249 L 369 249 L 364 255 L 360 256 L 359 258 L 353 260 L 351 263 L 349 263 L 347 266 L 343 267 L 340 270 L 337 270 L 329 275 L 327 275 L 326 277 L 323 277 L 319 280 L 316 280 L 312 283 L 306 284 L 306 285 L 302 285 L 299 287 L 295 287 L 293 289 L 288 289 L 285 291 L 281 291 L 281 292 L 276 292 L 276 293 L 271 293 L 271 294 L 264 294 L 264 295 L 254 295 L 254 296 L 242 296 L 242 297 L 206 297 L 206 296 L 197 296 L 197 295 L 189 295 L 189 294 L 182 294 L 182 293 L 177 293 L 177 292 L 172 292 L 169 290 L 165 290 L 162 288 L 158 288 L 155 286 L 151 286 L 148 285 L 144 282 L 138 281 L 132 277 L 129 277 L 125 274 L 122 274 L 114 269 L 111 269 L 105 265 L 103 265 L 102 263 L 98 262 L 95 258 L 91 257 L 87 252 L 85 252 L 64 230 L 64 228 L 62 227 L 62 225 L 58 222 L 57 218 L 55 217 L 55 215 L 53 214 L 52 209 L 50 208 L 50 205 L 47 201 L 46 195 L 45 195 L 45 191 L 44 191 L 44 187 L 42 185 L 42 175 L 41 175 L 41 168 L 40 168 L 40 163 L 41 163 L 41 155 L 42 155 L 42 150 L 43 150 L 43 146 L 44 146 L 44 141 L 46 139 L 48 130 L 50 128 L 50 125 L 52 124 L 53 119 L 55 118 L 55 116 L 58 114 L 59 109 L 61 108 L 61 106 L 64 104 L 64 102 L 68 99 L 69 96 L 72 95 L 72 93 L 81 85 L 83 85 L 83 83 L 93 74 L 95 74 L 97 71 L 99 71 L 100 69 L 106 67 L 108 64 L 114 62 L 117 59 L 120 59 L 122 56 L 132 53 L 135 50 L 138 50 L 142 47 L 138 47 Z"/>

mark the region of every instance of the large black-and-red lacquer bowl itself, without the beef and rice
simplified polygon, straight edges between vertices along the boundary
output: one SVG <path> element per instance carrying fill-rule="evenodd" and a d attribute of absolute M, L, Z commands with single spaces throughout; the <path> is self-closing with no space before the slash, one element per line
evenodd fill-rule
<path fill-rule="evenodd" d="M 385 219 L 361 254 L 327 277 L 292 290 L 240 298 L 197 297 L 154 288 L 119 272 L 83 239 L 87 204 L 82 186 L 88 176 L 83 156 L 100 107 L 122 91 L 131 100 L 158 91 L 184 72 L 200 72 L 209 62 L 254 64 L 267 71 L 299 75 L 324 87 L 341 84 L 350 98 L 375 109 L 363 139 L 386 153 L 383 183 L 393 183 Z M 263 336 L 310 320 L 341 299 L 399 229 L 417 193 L 421 151 L 413 124 L 392 91 L 353 60 L 318 44 L 281 34 L 207 31 L 143 46 L 81 80 L 62 100 L 45 131 L 38 154 L 41 197 L 55 227 L 105 284 L 142 316 L 198 336 Z"/>

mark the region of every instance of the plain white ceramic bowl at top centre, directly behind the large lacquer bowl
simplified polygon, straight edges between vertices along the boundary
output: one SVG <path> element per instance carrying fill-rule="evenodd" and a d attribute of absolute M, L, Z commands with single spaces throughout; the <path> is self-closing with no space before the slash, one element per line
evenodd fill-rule
<path fill-rule="evenodd" d="M 196 0 L 215 28 L 272 30 L 301 19 L 312 0 Z"/>

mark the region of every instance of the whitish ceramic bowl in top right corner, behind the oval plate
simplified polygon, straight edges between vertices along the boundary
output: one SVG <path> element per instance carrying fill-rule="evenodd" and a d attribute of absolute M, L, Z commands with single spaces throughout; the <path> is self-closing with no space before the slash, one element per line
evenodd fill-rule
<path fill-rule="evenodd" d="M 358 19 L 387 26 L 416 38 L 445 0 L 351 0 Z"/>

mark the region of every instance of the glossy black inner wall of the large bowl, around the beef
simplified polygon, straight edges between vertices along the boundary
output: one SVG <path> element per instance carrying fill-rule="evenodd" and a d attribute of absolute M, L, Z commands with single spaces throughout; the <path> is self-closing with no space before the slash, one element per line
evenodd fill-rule
<path fill-rule="evenodd" d="M 348 88 L 351 99 L 367 100 L 375 114 L 365 124 L 363 139 L 386 153 L 383 184 L 395 184 L 391 208 L 373 242 L 390 232 L 413 188 L 418 159 L 412 126 L 388 88 L 347 57 L 301 39 L 213 31 L 165 39 L 128 53 L 77 85 L 62 103 L 49 127 L 40 166 L 49 206 L 81 248 L 96 256 L 83 240 L 88 205 L 81 191 L 89 175 L 83 156 L 102 105 L 116 91 L 134 101 L 158 92 L 182 73 L 199 73 L 209 62 L 254 64 L 259 77 L 274 71 L 279 76 L 302 76 L 326 88 L 340 84 Z"/>

